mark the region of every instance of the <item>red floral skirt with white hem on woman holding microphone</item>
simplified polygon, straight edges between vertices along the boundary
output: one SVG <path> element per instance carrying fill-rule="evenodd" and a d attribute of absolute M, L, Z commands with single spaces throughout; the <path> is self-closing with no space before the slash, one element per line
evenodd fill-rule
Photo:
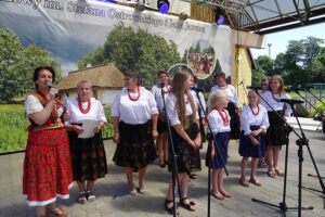
<path fill-rule="evenodd" d="M 66 129 L 30 131 L 24 161 L 23 196 L 29 206 L 68 199 L 73 184 Z"/>

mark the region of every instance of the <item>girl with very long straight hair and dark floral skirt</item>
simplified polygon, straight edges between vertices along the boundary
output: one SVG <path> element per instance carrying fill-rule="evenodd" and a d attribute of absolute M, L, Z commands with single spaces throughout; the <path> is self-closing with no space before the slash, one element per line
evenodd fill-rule
<path fill-rule="evenodd" d="M 187 197 L 188 179 L 191 173 L 200 170 L 198 149 L 200 133 L 198 128 L 198 114 L 193 95 L 190 91 L 191 75 L 186 71 L 178 72 L 172 80 L 172 89 L 167 99 L 167 114 L 172 125 L 172 139 L 176 154 L 178 155 L 178 171 L 183 192 L 180 205 L 188 210 L 195 210 L 194 202 Z M 172 169 L 171 166 L 169 169 Z M 172 214 L 172 180 L 165 201 L 165 208 Z M 177 213 L 179 213 L 177 210 Z"/>

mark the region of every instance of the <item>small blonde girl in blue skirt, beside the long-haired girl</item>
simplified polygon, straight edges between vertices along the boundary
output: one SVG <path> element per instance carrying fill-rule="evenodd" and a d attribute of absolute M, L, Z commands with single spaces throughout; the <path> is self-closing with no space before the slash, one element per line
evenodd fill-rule
<path fill-rule="evenodd" d="M 212 168 L 212 191 L 211 195 L 223 200 L 231 197 L 231 194 L 223 189 L 223 164 L 227 161 L 227 143 L 230 139 L 230 115 L 224 107 L 227 105 L 226 92 L 218 90 L 209 97 L 209 114 L 207 119 L 211 127 L 211 133 L 216 137 L 217 144 L 211 142 L 211 151 L 208 150 L 206 166 L 211 164 Z M 218 154 L 219 146 L 222 161 Z M 222 164 L 223 163 L 223 164 Z"/>

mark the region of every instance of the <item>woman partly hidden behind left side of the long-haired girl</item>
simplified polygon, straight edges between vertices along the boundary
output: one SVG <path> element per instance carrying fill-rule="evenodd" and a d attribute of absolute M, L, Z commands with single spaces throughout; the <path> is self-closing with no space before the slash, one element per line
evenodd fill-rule
<path fill-rule="evenodd" d="M 168 164 L 168 131 L 167 131 L 167 119 L 166 114 L 164 110 L 164 101 L 162 101 L 162 94 L 161 89 L 164 91 L 164 99 L 166 101 L 170 86 L 168 85 L 168 74 L 166 71 L 159 71 L 158 79 L 160 84 L 164 84 L 164 87 L 159 87 L 159 84 L 154 85 L 152 88 L 152 93 L 155 97 L 155 100 L 157 102 L 157 108 L 159 112 L 158 116 L 158 124 L 157 124 L 157 130 L 158 130 L 158 138 L 157 138 L 157 148 L 159 151 L 159 165 L 161 168 L 164 168 Z"/>

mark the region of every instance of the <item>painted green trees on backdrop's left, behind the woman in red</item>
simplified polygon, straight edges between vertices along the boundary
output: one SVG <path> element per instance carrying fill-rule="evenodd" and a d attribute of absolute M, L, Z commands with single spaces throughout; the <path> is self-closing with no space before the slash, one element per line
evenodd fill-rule
<path fill-rule="evenodd" d="M 36 44 L 24 48 L 14 33 L 0 28 L 0 103 L 34 90 L 32 73 L 39 65 L 54 67 L 56 81 L 61 79 L 61 63 L 49 51 Z"/>

